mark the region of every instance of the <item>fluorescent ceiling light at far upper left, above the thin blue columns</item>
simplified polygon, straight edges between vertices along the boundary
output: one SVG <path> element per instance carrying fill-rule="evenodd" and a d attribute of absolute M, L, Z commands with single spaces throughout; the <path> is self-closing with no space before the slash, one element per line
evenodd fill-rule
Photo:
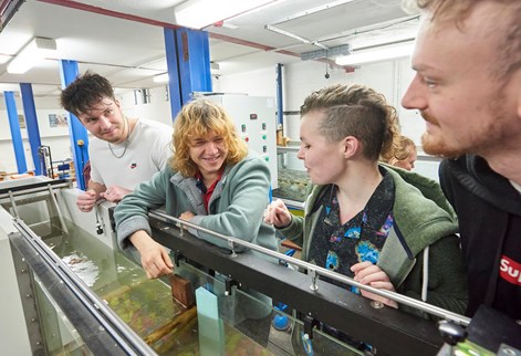
<path fill-rule="evenodd" d="M 52 39 L 33 38 L 11 62 L 8 63 L 8 73 L 23 74 L 38 64 L 51 51 L 56 50 L 56 41 Z"/>

